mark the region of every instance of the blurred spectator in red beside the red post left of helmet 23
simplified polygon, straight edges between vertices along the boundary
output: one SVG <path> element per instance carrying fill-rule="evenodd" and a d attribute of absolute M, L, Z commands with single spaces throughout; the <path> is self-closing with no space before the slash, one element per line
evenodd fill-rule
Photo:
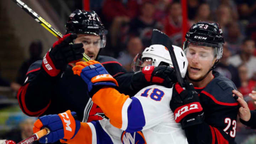
<path fill-rule="evenodd" d="M 167 16 L 162 21 L 164 32 L 176 46 L 182 45 L 182 10 L 180 2 L 174 1 L 167 8 Z M 187 30 L 190 25 L 187 24 Z"/>

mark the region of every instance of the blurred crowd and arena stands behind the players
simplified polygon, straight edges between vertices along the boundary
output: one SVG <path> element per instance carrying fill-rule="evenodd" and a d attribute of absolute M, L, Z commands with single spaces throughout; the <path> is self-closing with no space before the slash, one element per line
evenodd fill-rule
<path fill-rule="evenodd" d="M 63 34 L 69 14 L 83 9 L 85 1 L 89 0 L 24 0 Z M 134 56 L 150 45 L 153 28 L 165 32 L 174 45 L 183 45 L 179 0 L 90 0 L 90 10 L 97 12 L 108 30 L 107 46 L 100 54 L 117 58 L 127 71 Z M 235 83 L 254 110 L 248 94 L 256 86 L 256 1 L 187 0 L 187 15 L 187 30 L 198 21 L 220 24 L 225 44 L 216 70 Z M 42 59 L 57 38 L 7 0 L 0 2 L 0 20 L 0 139 L 18 133 L 21 140 L 32 134 L 35 119 L 22 114 L 16 93 L 28 67 Z M 256 131 L 238 123 L 236 141 L 255 144 Z"/>

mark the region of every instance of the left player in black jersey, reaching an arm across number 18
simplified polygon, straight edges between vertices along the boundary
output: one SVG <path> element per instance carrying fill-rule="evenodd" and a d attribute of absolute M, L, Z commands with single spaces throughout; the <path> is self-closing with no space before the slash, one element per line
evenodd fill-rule
<path fill-rule="evenodd" d="M 26 81 L 17 94 L 22 111 L 28 116 L 42 116 L 71 110 L 77 113 L 80 121 L 102 119 L 103 112 L 85 92 L 86 83 L 71 69 L 71 64 L 79 61 L 84 52 L 117 79 L 120 92 L 134 95 L 150 85 L 151 76 L 146 79 L 142 72 L 126 74 L 116 59 L 98 55 L 106 45 L 105 34 L 100 17 L 94 11 L 75 10 L 71 13 L 66 23 L 66 35 L 53 44 L 43 60 L 28 69 Z M 152 76 L 161 76 L 164 72 L 168 73 L 166 67 L 157 67 Z M 160 83 L 169 83 L 169 79 L 162 78 Z"/>

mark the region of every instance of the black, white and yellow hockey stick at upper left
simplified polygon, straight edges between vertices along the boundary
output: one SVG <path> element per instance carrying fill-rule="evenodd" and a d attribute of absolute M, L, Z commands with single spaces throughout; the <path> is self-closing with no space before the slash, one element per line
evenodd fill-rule
<path fill-rule="evenodd" d="M 15 2 L 18 6 L 21 7 L 24 11 L 26 11 L 30 16 L 34 18 L 35 21 L 40 23 L 46 30 L 48 30 L 50 33 L 52 33 L 55 37 L 61 38 L 63 35 L 56 30 L 54 27 L 52 27 L 46 20 L 44 20 L 41 16 L 39 16 L 36 12 L 34 12 L 30 7 L 28 7 L 23 1 L 21 0 L 12 0 Z M 90 57 L 88 57 L 85 53 L 83 54 L 82 58 L 85 62 L 91 60 Z"/>

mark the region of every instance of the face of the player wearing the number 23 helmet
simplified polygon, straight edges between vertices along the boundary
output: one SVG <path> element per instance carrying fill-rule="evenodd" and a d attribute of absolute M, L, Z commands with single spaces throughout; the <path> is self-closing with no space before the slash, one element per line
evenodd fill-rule
<path fill-rule="evenodd" d="M 188 77 L 191 80 L 199 80 L 213 66 L 216 58 L 212 47 L 196 46 L 190 44 L 186 52 L 188 60 Z"/>

